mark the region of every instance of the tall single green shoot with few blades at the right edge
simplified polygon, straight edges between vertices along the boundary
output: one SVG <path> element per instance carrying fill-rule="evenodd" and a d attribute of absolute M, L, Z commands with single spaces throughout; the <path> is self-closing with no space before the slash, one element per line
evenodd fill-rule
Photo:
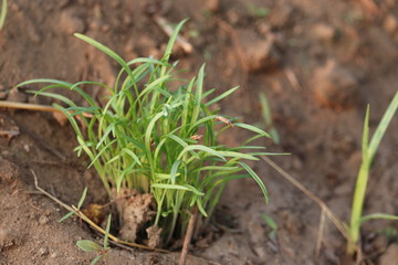
<path fill-rule="evenodd" d="M 357 181 L 355 186 L 350 224 L 348 227 L 349 242 L 348 242 L 348 253 L 354 253 L 358 241 L 359 241 L 359 231 L 360 225 L 371 219 L 389 219 L 398 220 L 398 216 L 385 213 L 375 213 L 363 216 L 364 201 L 366 187 L 369 178 L 369 169 L 371 161 L 375 157 L 375 153 L 380 145 L 381 138 L 386 132 L 386 129 L 391 121 L 392 116 L 395 115 L 398 108 L 398 92 L 395 94 L 390 105 L 388 106 L 386 113 L 384 114 L 379 125 L 376 128 L 374 136 L 369 142 L 369 106 L 366 109 L 365 123 L 364 123 L 364 135 L 363 135 L 363 159 L 357 176 Z"/>

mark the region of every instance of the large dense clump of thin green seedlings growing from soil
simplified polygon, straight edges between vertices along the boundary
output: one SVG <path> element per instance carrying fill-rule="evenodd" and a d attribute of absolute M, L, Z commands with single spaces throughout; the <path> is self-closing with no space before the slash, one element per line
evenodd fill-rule
<path fill-rule="evenodd" d="M 176 77 L 177 63 L 170 64 L 169 59 L 184 23 L 176 26 L 160 61 L 140 57 L 125 62 L 107 46 L 75 34 L 122 66 L 113 88 L 90 81 L 71 84 L 57 80 L 31 80 L 19 84 L 50 83 L 31 93 L 62 102 L 64 106 L 54 106 L 65 114 L 76 134 L 77 155 L 84 151 L 90 157 L 90 167 L 96 169 L 111 198 L 115 197 L 113 189 L 118 192 L 121 188 L 154 195 L 157 213 L 153 225 L 163 229 L 166 242 L 185 234 L 193 208 L 198 208 L 203 216 L 210 216 L 229 180 L 252 178 L 266 202 L 269 198 L 259 176 L 243 161 L 269 155 L 259 151 L 263 147 L 250 146 L 251 141 L 269 135 L 221 116 L 219 109 L 211 109 L 214 103 L 238 87 L 207 99 L 214 89 L 203 89 L 205 65 L 198 77 L 190 81 Z M 176 84 L 178 87 L 171 89 Z M 105 88 L 109 94 L 107 102 L 104 105 L 95 102 L 81 88 L 83 85 Z M 46 92 L 56 87 L 77 92 L 88 106 L 77 106 L 65 96 Z M 255 135 L 240 147 L 218 144 L 219 136 L 232 127 Z M 198 225 L 206 221 L 197 222 Z"/>

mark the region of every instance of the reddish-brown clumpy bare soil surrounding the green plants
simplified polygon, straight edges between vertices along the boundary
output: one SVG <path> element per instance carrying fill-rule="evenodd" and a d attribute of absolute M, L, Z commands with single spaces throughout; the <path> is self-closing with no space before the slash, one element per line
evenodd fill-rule
<path fill-rule="evenodd" d="M 207 63 L 206 87 L 217 94 L 241 85 L 220 103 L 222 113 L 264 125 L 259 93 L 265 93 L 281 144 L 268 150 L 291 152 L 277 163 L 349 220 L 366 105 L 374 129 L 398 84 L 398 3 L 395 0 L 207 0 L 207 1 L 28 1 L 10 0 L 0 32 L 0 99 L 50 104 L 32 97 L 29 78 L 81 80 L 112 84 L 117 65 L 72 35 L 81 32 L 111 46 L 126 60 L 161 54 L 168 38 L 154 22 L 159 15 L 190 21 L 184 36 L 190 54 L 176 51 L 191 76 Z M 100 96 L 98 88 L 88 91 Z M 74 94 L 67 94 L 78 100 Z M 87 160 L 77 159 L 69 125 L 51 114 L 0 109 L 0 264 L 88 264 L 95 256 L 75 245 L 101 236 L 78 220 L 57 220 L 66 211 L 38 194 L 39 184 L 67 204 L 84 187 L 88 203 L 106 203 L 106 192 Z M 365 213 L 398 214 L 398 119 L 381 142 L 371 170 Z M 232 131 L 232 130 L 231 130 Z M 237 145 L 238 129 L 223 141 Z M 345 240 L 325 223 L 318 255 L 317 204 L 264 162 L 253 163 L 265 182 L 264 204 L 254 181 L 230 182 L 187 264 L 354 264 Z M 277 224 L 276 237 L 262 214 Z M 398 264 L 398 224 L 365 223 L 364 263 Z M 113 246 L 106 264 L 175 264 L 179 252 L 160 254 Z"/>

